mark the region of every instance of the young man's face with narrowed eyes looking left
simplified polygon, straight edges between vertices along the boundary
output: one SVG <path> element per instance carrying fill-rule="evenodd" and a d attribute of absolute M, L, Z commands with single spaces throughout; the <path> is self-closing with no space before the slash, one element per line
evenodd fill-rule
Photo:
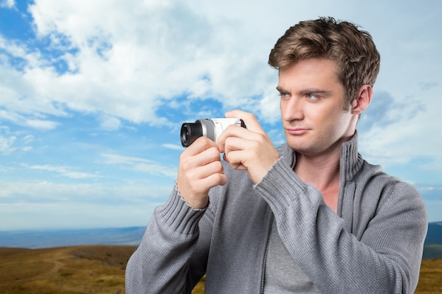
<path fill-rule="evenodd" d="M 299 61 L 280 71 L 281 116 L 288 145 L 301 154 L 320 155 L 350 140 L 357 117 L 345 111 L 345 89 L 327 59 Z"/>

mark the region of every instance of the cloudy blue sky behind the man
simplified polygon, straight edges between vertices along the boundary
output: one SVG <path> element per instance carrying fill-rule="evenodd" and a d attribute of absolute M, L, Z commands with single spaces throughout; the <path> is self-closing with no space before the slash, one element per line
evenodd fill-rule
<path fill-rule="evenodd" d="M 284 143 L 268 54 L 320 16 L 381 54 L 359 152 L 442 221 L 442 1 L 251 3 L 0 0 L 0 231 L 145 226 L 172 192 L 184 122 L 243 109 Z"/>

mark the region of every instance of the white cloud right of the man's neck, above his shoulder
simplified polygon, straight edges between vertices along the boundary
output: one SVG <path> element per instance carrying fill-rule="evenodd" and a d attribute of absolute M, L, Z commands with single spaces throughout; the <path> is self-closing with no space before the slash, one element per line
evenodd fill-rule
<path fill-rule="evenodd" d="M 434 99 L 438 91 L 422 90 L 422 99 L 394 97 L 389 106 L 381 104 L 382 117 L 369 118 L 375 123 L 361 133 L 364 157 L 386 167 L 425 160 L 429 163 L 421 164 L 422 169 L 441 174 L 442 103 Z"/>

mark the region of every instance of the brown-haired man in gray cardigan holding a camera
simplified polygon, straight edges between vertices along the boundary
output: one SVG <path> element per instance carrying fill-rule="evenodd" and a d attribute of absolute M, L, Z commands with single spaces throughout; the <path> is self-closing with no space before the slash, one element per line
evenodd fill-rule
<path fill-rule="evenodd" d="M 129 260 L 126 293 L 191 293 L 204 274 L 205 293 L 413 293 L 424 202 L 357 152 L 379 61 L 351 23 L 290 27 L 269 59 L 287 144 L 275 149 L 238 110 L 226 116 L 247 129 L 193 142 Z"/>

